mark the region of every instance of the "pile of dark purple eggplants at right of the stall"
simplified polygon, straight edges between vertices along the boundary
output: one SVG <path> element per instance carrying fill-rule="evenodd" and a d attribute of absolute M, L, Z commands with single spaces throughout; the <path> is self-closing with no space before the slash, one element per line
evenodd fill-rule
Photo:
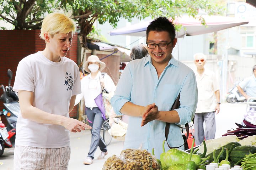
<path fill-rule="evenodd" d="M 244 139 L 248 136 L 256 135 L 256 125 L 251 124 L 249 121 L 245 119 L 243 120 L 243 122 L 245 126 L 235 123 L 238 126 L 238 128 L 236 128 L 236 130 L 228 130 L 228 132 L 222 136 L 235 135 L 239 139 Z"/>

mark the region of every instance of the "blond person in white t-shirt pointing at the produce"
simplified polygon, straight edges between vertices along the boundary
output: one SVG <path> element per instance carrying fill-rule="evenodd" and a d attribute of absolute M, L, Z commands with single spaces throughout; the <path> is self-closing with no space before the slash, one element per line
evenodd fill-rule
<path fill-rule="evenodd" d="M 69 131 L 91 128 L 69 118 L 76 95 L 81 93 L 79 68 L 65 57 L 76 31 L 71 15 L 71 10 L 47 15 L 40 34 L 45 49 L 18 64 L 14 91 L 18 92 L 21 113 L 16 127 L 15 170 L 68 169 Z"/>

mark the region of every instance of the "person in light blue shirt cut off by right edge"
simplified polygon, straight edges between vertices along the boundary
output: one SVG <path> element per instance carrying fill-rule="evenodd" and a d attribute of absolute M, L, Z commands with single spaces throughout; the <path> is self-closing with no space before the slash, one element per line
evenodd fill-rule
<path fill-rule="evenodd" d="M 238 91 L 246 98 L 256 97 L 256 65 L 252 68 L 253 75 L 241 81 L 238 85 Z M 244 89 L 246 88 L 246 93 Z"/>

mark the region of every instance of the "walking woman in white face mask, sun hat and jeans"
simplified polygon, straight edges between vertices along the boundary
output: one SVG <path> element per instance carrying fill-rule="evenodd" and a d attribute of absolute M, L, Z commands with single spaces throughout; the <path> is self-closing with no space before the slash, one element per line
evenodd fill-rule
<path fill-rule="evenodd" d="M 93 163 L 94 153 L 97 147 L 100 147 L 101 154 L 98 159 L 103 159 L 107 154 L 107 146 L 100 136 L 101 126 L 104 122 L 102 118 L 101 111 L 95 103 L 95 98 L 102 93 L 101 85 L 104 90 L 111 92 L 114 90 L 113 80 L 109 75 L 105 74 L 104 77 L 101 71 L 106 67 L 106 64 L 99 60 L 95 55 L 88 57 L 85 62 L 85 71 L 90 73 L 81 80 L 81 90 L 82 93 L 76 96 L 75 105 L 80 102 L 82 97 L 84 97 L 86 115 L 91 129 L 91 145 L 87 158 L 84 164 L 89 165 Z"/>

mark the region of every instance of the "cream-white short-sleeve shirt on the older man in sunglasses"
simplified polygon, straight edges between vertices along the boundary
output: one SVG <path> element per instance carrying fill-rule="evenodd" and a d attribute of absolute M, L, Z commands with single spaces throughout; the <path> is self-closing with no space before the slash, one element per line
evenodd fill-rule
<path fill-rule="evenodd" d="M 217 75 L 205 69 L 202 76 L 194 71 L 197 80 L 198 102 L 196 113 L 214 112 L 216 108 L 215 91 L 219 90 Z"/>

